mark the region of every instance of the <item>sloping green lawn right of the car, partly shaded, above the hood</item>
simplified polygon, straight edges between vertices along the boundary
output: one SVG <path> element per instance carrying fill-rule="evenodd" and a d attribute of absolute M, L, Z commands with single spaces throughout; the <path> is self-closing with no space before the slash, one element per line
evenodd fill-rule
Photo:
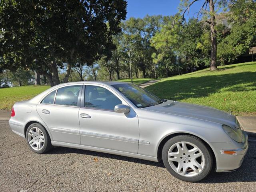
<path fill-rule="evenodd" d="M 256 114 L 256 62 L 219 66 L 165 78 L 146 87 L 160 98 L 211 106 L 235 115 Z"/>

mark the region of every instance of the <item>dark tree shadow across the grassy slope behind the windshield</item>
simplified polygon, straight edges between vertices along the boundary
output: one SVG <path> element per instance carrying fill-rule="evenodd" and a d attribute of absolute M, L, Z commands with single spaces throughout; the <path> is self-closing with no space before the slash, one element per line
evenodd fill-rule
<path fill-rule="evenodd" d="M 158 82 L 146 89 L 160 98 L 182 100 L 186 98 L 206 97 L 219 92 L 222 88 L 228 88 L 227 91 L 233 92 L 256 90 L 255 78 L 255 72 L 187 77 L 185 79 Z M 250 85 L 239 85 L 242 83 L 250 83 Z M 235 87 L 229 88 L 231 86 Z"/>

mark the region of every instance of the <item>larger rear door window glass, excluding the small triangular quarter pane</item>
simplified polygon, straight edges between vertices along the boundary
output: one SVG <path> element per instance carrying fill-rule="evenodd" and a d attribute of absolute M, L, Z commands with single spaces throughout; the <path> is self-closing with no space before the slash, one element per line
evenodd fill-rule
<path fill-rule="evenodd" d="M 77 106 L 80 88 L 80 85 L 59 88 L 56 94 L 54 104 Z"/>

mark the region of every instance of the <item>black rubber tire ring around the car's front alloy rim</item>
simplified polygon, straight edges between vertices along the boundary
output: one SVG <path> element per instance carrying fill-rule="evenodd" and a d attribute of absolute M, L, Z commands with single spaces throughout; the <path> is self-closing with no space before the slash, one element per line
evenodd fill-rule
<path fill-rule="evenodd" d="M 198 146 L 200 148 L 200 150 L 204 154 L 205 166 L 204 166 L 204 169 L 202 170 L 202 172 L 200 174 L 198 174 L 197 176 L 193 176 L 193 177 L 182 176 L 182 175 L 176 173 L 171 168 L 171 166 L 168 162 L 168 158 L 167 158 L 168 150 L 170 149 L 170 147 L 173 144 L 175 144 L 176 142 L 181 142 L 181 141 L 187 141 L 187 142 L 191 142 L 191 143 L 195 144 L 196 146 Z M 195 136 L 190 136 L 190 135 L 175 136 L 175 137 L 171 138 L 170 140 L 168 140 L 164 144 L 164 147 L 163 147 L 163 150 L 162 150 L 162 160 L 163 160 L 163 163 L 164 163 L 164 166 L 166 167 L 166 169 L 174 177 L 176 177 L 180 180 L 186 181 L 186 182 L 198 182 L 198 181 L 206 178 L 206 176 L 208 176 L 208 174 L 211 172 L 212 165 L 213 165 L 212 152 L 208 148 L 208 146 L 206 146 L 200 138 L 197 138 Z"/>

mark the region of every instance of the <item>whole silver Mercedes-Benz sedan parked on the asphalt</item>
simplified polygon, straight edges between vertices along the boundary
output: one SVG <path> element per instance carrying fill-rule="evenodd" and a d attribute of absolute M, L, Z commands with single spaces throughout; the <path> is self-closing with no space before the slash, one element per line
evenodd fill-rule
<path fill-rule="evenodd" d="M 212 169 L 239 168 L 248 150 L 248 136 L 234 115 L 158 98 L 125 82 L 59 84 L 15 103 L 9 124 L 36 153 L 62 146 L 162 160 L 188 182 Z"/>

